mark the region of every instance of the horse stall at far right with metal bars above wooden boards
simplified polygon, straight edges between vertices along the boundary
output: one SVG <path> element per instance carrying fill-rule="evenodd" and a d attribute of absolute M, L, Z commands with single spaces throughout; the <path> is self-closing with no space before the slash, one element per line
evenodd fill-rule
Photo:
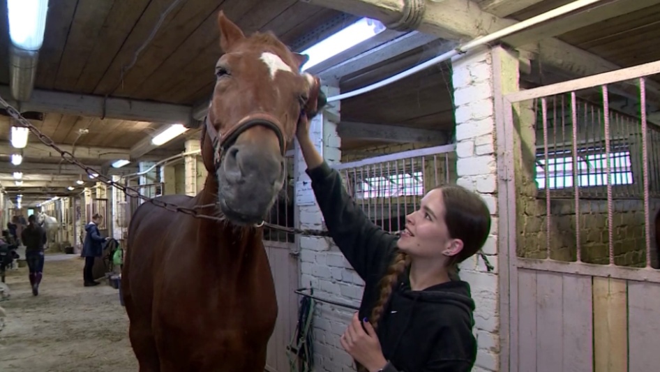
<path fill-rule="evenodd" d="M 660 122 L 646 112 L 659 73 L 504 96 L 508 371 L 657 371 Z"/>

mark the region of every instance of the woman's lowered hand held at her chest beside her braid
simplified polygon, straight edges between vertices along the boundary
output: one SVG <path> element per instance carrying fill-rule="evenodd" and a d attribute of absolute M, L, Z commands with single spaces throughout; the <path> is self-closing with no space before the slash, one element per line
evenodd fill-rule
<path fill-rule="evenodd" d="M 378 371 L 387 364 L 375 329 L 366 319 L 360 322 L 357 313 L 353 314 L 351 324 L 339 341 L 344 350 L 368 371 Z"/>

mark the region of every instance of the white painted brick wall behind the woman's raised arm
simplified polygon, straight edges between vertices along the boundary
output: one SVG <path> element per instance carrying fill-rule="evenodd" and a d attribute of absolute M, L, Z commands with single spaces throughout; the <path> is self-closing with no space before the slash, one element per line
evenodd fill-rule
<path fill-rule="evenodd" d="M 338 89 L 327 89 L 328 96 Z M 333 116 L 339 116 L 339 103 L 329 103 Z M 317 149 L 330 165 L 340 163 L 340 137 L 336 123 L 320 114 L 310 124 L 310 135 Z M 305 173 L 306 164 L 299 149 L 296 151 L 296 205 L 300 228 L 325 228 L 316 198 Z M 364 283 L 334 246 L 331 239 L 299 237 L 301 286 L 313 288 L 314 294 L 324 299 L 359 306 Z M 354 371 L 353 360 L 339 343 L 352 317 L 352 310 L 317 302 L 314 316 L 315 371 Z"/>

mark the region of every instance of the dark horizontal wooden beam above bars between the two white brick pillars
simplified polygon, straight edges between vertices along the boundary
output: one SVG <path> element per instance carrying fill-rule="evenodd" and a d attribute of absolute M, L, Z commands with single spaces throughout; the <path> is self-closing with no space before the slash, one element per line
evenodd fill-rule
<path fill-rule="evenodd" d="M 410 128 L 384 124 L 354 123 L 342 121 L 337 127 L 342 140 L 373 140 L 392 143 L 447 144 L 450 135 L 446 131 Z"/>

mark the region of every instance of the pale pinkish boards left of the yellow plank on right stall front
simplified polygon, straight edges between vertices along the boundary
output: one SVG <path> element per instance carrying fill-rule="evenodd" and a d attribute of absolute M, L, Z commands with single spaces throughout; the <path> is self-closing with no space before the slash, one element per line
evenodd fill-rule
<path fill-rule="evenodd" d="M 592 278 L 518 271 L 520 372 L 592 371 Z"/>

